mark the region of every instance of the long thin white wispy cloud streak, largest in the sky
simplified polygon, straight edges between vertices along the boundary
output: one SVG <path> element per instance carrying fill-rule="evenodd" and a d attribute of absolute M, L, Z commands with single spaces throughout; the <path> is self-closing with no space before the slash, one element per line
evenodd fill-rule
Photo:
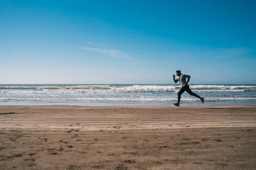
<path fill-rule="evenodd" d="M 104 49 L 104 48 L 81 48 L 81 49 L 90 50 L 90 51 L 98 51 L 103 54 L 108 54 L 108 56 L 110 56 L 110 57 L 134 59 L 134 58 L 129 57 L 128 54 L 126 54 L 125 52 L 119 51 L 119 50 Z M 138 61 L 137 59 L 134 59 L 134 60 Z"/>

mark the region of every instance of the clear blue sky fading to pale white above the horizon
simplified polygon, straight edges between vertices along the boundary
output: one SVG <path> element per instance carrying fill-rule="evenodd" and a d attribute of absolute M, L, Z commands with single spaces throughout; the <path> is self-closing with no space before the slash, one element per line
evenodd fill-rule
<path fill-rule="evenodd" d="M 0 84 L 256 84 L 254 0 L 0 0 Z"/>

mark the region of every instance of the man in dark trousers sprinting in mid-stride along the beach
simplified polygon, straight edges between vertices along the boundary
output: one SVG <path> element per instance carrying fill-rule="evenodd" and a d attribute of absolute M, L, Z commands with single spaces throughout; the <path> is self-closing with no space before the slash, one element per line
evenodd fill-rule
<path fill-rule="evenodd" d="M 188 94 L 190 94 L 191 96 L 196 96 L 197 98 L 199 98 L 201 100 L 201 102 L 204 104 L 204 97 L 200 97 L 197 94 L 193 93 L 190 88 L 189 88 L 189 80 L 190 80 L 190 76 L 186 75 L 186 74 L 181 74 L 180 70 L 176 71 L 176 75 L 177 75 L 177 79 L 175 79 L 175 75 L 173 74 L 173 81 L 175 83 L 177 83 L 178 81 L 181 84 L 181 89 L 178 92 L 178 102 L 177 103 L 173 103 L 175 106 L 179 107 L 180 106 L 180 96 L 181 94 L 183 94 L 184 91 L 186 91 Z M 188 80 L 186 81 L 186 78 L 188 78 Z"/>

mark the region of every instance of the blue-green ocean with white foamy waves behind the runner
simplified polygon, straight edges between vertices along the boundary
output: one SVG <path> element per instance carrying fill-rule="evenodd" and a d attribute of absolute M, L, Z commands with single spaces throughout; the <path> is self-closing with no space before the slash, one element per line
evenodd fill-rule
<path fill-rule="evenodd" d="M 256 85 L 189 85 L 204 105 L 256 105 Z M 172 105 L 178 85 L 0 85 L 0 105 Z M 186 92 L 180 105 L 202 105 Z"/>

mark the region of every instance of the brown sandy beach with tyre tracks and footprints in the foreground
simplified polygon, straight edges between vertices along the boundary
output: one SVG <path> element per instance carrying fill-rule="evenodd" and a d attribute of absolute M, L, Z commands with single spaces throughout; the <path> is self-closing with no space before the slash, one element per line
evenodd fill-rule
<path fill-rule="evenodd" d="M 1 170 L 256 169 L 256 106 L 0 106 Z"/>

